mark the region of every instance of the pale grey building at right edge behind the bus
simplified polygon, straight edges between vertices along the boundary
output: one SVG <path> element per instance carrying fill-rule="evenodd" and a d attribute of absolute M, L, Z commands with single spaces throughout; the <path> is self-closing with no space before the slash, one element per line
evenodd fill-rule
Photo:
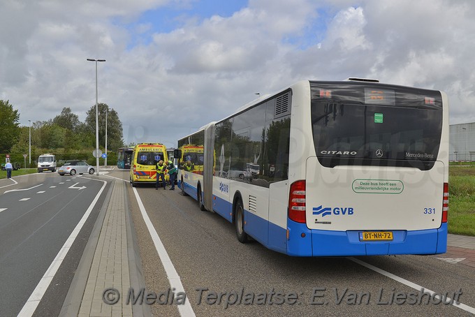
<path fill-rule="evenodd" d="M 475 122 L 449 126 L 449 161 L 475 161 Z"/>

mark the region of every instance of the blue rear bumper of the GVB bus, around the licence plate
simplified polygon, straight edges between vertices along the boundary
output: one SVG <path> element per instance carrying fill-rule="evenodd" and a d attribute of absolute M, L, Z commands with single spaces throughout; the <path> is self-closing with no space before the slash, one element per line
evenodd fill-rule
<path fill-rule="evenodd" d="M 309 230 L 305 224 L 296 223 L 288 229 L 287 254 L 290 256 L 429 255 L 447 251 L 447 223 L 437 229 L 393 230 L 392 241 L 373 242 L 360 241 L 361 230 Z"/>

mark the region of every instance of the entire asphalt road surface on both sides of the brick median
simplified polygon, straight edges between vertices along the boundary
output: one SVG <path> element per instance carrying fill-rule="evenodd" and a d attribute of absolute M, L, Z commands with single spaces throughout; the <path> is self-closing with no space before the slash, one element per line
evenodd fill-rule
<path fill-rule="evenodd" d="M 129 172 L 114 170 L 100 179 L 108 176 L 128 183 Z M 0 184 L 0 316 L 22 309 L 103 184 L 96 177 L 54 173 L 17 181 Z M 475 311 L 473 267 L 435 256 L 289 257 L 257 242 L 241 244 L 231 223 L 201 212 L 179 190 L 127 188 L 142 288 L 158 297 L 150 302 L 154 316 L 473 316 Z M 106 191 L 36 316 L 59 313 Z M 163 249 L 157 250 L 159 244 Z M 431 291 L 448 296 L 447 304 Z M 462 304 L 454 306 L 455 300 Z"/>

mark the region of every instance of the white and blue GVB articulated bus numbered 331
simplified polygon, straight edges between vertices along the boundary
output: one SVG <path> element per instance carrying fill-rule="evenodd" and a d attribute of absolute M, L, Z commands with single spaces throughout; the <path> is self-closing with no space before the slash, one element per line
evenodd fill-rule
<path fill-rule="evenodd" d="M 446 252 L 442 91 L 302 81 L 178 147 L 188 143 L 203 146 L 203 175 L 179 170 L 180 188 L 234 223 L 240 242 L 252 237 L 290 256 Z"/>

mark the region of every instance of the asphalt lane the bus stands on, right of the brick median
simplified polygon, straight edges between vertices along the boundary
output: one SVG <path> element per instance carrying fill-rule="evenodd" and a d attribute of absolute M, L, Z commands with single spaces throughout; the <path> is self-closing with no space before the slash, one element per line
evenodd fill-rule
<path fill-rule="evenodd" d="M 127 179 L 122 174 L 116 176 Z M 196 316 L 473 316 L 475 311 L 472 267 L 434 256 L 293 258 L 257 242 L 241 244 L 231 223 L 201 212 L 179 191 L 153 186 L 136 191 Z M 144 288 L 163 299 L 170 277 L 134 196 L 129 188 Z M 431 290 L 448 296 L 448 304 L 438 297 L 425 304 Z M 455 299 L 462 305 L 450 304 Z M 157 300 L 152 313 L 180 316 L 177 307 Z"/>

